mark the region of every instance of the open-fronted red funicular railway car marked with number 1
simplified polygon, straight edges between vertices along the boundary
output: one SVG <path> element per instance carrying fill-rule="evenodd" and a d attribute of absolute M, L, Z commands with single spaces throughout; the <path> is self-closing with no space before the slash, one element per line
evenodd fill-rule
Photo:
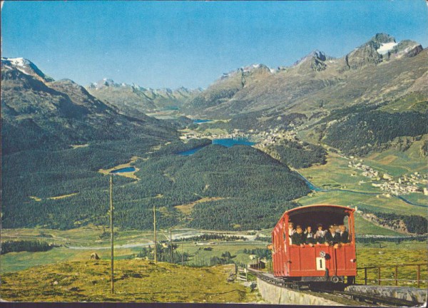
<path fill-rule="evenodd" d="M 287 210 L 272 231 L 272 261 L 275 277 L 283 277 L 294 287 L 318 282 L 355 282 L 354 209 L 339 205 L 308 205 Z M 348 230 L 344 242 L 315 245 L 293 245 L 289 224 L 311 226 L 345 225 Z M 328 230 L 327 230 L 328 232 Z"/>

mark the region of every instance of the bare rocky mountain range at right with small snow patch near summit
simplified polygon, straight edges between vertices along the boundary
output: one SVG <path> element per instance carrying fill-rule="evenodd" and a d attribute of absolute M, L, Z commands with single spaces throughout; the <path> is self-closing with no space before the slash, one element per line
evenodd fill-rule
<path fill-rule="evenodd" d="M 427 93 L 427 56 L 417 42 L 397 43 L 392 36 L 377 34 L 342 58 L 313 51 L 277 71 L 259 66 L 254 81 L 243 83 L 241 68 L 241 73 L 223 76 L 188 101 L 185 111 L 207 118 L 255 113 L 253 120 L 260 121 L 293 112 L 310 117 L 342 106 L 392 100 L 411 91 Z"/>

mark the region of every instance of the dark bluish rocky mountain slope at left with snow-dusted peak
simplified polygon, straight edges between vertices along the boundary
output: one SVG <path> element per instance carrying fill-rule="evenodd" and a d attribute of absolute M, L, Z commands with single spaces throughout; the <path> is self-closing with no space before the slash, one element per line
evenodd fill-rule
<path fill-rule="evenodd" d="M 54 81 L 23 58 L 1 59 L 1 125 L 3 154 L 133 135 L 161 143 L 176 135 L 154 118 L 121 115 L 77 83 Z"/>

